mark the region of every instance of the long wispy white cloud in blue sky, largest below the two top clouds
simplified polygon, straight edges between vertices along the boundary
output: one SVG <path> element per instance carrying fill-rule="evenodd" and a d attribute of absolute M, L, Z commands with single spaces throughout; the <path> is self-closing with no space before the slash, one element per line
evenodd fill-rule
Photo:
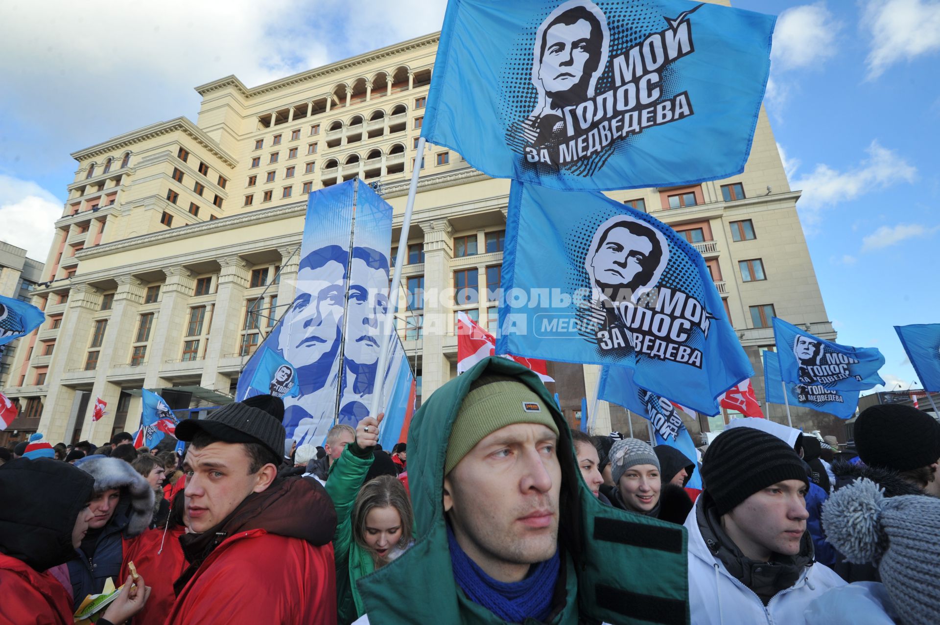
<path fill-rule="evenodd" d="M 917 167 L 908 164 L 893 149 L 882 147 L 877 140 L 872 141 L 865 151 L 868 157 L 845 171 L 817 164 L 812 173 L 791 181 L 793 189 L 803 190 L 799 208 L 808 223 L 818 221 L 818 212 L 823 207 L 853 200 L 899 182 L 913 182 L 917 178 Z"/>

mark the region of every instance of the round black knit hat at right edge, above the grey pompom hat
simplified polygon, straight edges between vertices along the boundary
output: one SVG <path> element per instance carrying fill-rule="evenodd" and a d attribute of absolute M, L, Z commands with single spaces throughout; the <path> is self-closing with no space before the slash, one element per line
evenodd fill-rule
<path fill-rule="evenodd" d="M 869 466 L 911 471 L 940 459 L 940 423 L 911 406 L 866 408 L 854 433 L 858 457 Z"/>

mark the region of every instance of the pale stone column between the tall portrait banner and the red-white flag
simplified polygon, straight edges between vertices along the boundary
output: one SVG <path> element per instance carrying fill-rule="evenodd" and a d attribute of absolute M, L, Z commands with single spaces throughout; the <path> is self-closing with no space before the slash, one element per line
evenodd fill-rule
<path fill-rule="evenodd" d="M 424 230 L 424 340 L 422 342 L 422 395 L 430 397 L 450 379 L 450 363 L 444 356 L 454 296 L 450 279 L 454 228 L 447 219 L 421 224 Z"/>

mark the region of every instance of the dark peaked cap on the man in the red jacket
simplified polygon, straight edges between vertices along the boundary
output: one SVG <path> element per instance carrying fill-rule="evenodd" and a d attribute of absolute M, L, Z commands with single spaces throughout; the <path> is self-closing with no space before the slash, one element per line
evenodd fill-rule
<path fill-rule="evenodd" d="M 252 400 L 255 405 L 249 405 Z M 176 428 L 180 441 L 192 441 L 196 432 L 203 430 L 225 443 L 259 443 L 271 452 L 272 464 L 280 464 L 284 453 L 287 431 L 281 425 L 284 402 L 271 395 L 257 396 L 227 404 L 212 411 L 204 419 L 185 419 Z M 258 408 L 263 405 L 265 409 Z"/>

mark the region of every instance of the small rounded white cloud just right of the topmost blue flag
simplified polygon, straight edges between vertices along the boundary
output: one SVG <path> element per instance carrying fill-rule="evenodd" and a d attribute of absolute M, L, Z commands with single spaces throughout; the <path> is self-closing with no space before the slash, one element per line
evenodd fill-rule
<path fill-rule="evenodd" d="M 788 8 L 776 19 L 771 60 L 777 70 L 818 67 L 836 53 L 840 24 L 824 2 Z"/>

